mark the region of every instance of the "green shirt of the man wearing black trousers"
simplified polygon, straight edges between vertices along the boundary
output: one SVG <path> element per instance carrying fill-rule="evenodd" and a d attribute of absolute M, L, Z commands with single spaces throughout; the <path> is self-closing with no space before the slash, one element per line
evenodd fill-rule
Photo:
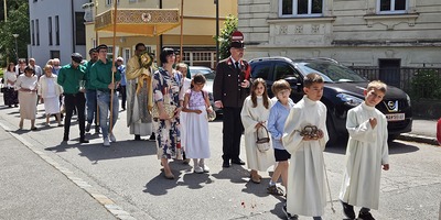
<path fill-rule="evenodd" d="M 85 66 L 74 68 L 72 64 L 67 64 L 60 69 L 56 82 L 63 87 L 64 94 L 78 94 L 79 80 L 85 80 Z"/>

